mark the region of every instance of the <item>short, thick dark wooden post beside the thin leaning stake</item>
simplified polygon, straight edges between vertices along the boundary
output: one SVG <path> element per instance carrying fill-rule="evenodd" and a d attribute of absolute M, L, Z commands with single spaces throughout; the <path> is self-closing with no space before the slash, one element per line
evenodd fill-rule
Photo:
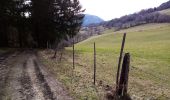
<path fill-rule="evenodd" d="M 122 70 L 119 80 L 119 87 L 117 90 L 118 96 L 125 96 L 128 88 L 128 77 L 129 77 L 129 65 L 130 65 L 130 54 L 126 53 L 123 59 Z"/>

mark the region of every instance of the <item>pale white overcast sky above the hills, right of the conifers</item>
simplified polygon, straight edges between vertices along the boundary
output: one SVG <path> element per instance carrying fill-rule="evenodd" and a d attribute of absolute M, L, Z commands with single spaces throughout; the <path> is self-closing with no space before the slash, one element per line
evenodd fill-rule
<path fill-rule="evenodd" d="M 169 0 L 80 0 L 85 14 L 96 15 L 105 21 L 158 7 Z"/>

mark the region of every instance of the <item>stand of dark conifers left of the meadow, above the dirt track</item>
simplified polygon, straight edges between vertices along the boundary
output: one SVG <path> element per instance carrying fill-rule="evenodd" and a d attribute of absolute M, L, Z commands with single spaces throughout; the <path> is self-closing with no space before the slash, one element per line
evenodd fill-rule
<path fill-rule="evenodd" d="M 0 0 L 0 47 L 54 47 L 77 34 L 83 12 L 79 0 Z"/>

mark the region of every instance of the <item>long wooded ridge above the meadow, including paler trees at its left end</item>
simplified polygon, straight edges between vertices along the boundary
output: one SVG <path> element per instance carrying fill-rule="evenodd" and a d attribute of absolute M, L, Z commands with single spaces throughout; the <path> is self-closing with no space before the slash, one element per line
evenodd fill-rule
<path fill-rule="evenodd" d="M 170 1 L 161 4 L 159 7 L 141 10 L 110 21 L 89 24 L 82 27 L 75 38 L 76 42 L 80 42 L 91 36 L 103 34 L 108 29 L 118 31 L 147 23 L 170 23 Z"/>

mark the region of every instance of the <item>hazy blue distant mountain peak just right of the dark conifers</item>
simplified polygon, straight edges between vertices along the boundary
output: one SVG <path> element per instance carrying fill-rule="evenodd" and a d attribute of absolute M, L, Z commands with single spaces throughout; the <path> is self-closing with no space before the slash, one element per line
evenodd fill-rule
<path fill-rule="evenodd" d="M 104 20 L 99 18 L 98 16 L 86 14 L 84 17 L 83 26 L 87 26 L 90 24 L 98 24 L 103 21 Z"/>

